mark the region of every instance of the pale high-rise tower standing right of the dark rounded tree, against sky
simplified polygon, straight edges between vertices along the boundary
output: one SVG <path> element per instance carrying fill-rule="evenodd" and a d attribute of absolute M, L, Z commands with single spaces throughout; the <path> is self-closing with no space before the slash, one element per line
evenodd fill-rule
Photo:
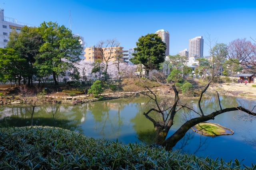
<path fill-rule="evenodd" d="M 203 36 L 195 37 L 189 40 L 188 57 L 202 58 L 204 56 Z"/>

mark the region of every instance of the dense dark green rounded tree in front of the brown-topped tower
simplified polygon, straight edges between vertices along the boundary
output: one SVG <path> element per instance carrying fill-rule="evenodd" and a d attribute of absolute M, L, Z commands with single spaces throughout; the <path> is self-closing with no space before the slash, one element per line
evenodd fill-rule
<path fill-rule="evenodd" d="M 143 64 L 146 72 L 152 69 L 159 69 L 160 63 L 164 62 L 166 44 L 157 34 L 147 34 L 136 42 L 134 56 L 130 61 L 133 64 Z"/>

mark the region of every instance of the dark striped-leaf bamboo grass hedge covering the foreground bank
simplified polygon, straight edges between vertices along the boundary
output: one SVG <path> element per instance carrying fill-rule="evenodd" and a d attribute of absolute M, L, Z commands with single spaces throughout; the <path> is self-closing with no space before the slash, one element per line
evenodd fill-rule
<path fill-rule="evenodd" d="M 0 128 L 0 169 L 231 170 L 241 166 L 237 159 L 198 158 L 141 143 L 93 139 L 54 127 Z"/>

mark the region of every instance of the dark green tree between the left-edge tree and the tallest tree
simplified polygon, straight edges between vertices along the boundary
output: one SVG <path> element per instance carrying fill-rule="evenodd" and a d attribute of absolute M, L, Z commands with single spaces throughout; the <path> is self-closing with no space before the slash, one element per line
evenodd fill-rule
<path fill-rule="evenodd" d="M 39 49 L 43 44 L 42 37 L 36 27 L 24 26 L 20 33 L 12 31 L 9 39 L 7 47 L 14 49 L 22 59 L 26 59 L 27 66 L 24 67 L 22 77 L 24 80 L 28 78 L 28 86 L 30 86 L 33 83 L 33 75 L 36 75 L 34 63 L 36 62 L 36 55 L 39 54 Z M 21 79 L 20 76 L 18 78 L 19 84 Z"/>

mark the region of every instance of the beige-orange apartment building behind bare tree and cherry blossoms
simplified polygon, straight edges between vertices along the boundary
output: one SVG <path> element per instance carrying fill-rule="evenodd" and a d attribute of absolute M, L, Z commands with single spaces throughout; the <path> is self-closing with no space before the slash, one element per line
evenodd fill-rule
<path fill-rule="evenodd" d="M 108 61 L 115 61 L 116 60 L 116 56 L 118 56 L 118 53 L 122 54 L 124 47 L 107 47 L 104 48 L 104 55 L 102 55 L 102 51 L 100 51 L 100 49 L 98 47 L 92 46 L 92 47 L 86 47 L 84 49 L 84 60 L 86 61 L 94 61 L 97 59 L 101 59 L 103 60 L 103 57 L 105 57 L 105 59 L 109 59 Z M 119 52 L 118 52 L 119 49 Z M 121 58 L 122 59 L 122 58 Z M 123 60 L 123 59 L 122 59 Z"/>

